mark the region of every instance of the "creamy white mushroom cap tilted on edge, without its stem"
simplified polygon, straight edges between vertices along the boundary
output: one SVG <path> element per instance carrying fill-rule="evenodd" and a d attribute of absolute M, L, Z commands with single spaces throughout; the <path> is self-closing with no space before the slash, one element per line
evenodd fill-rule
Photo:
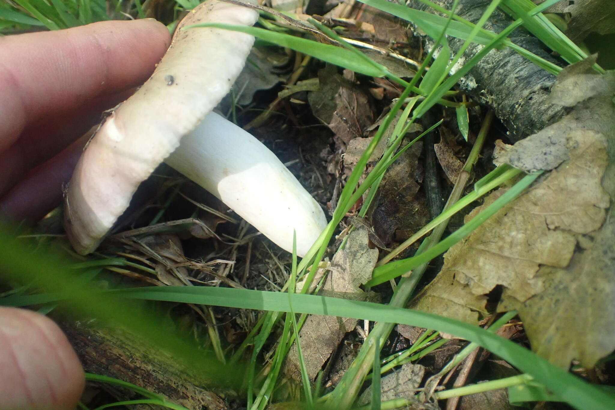
<path fill-rule="evenodd" d="M 254 42 L 235 31 L 181 28 L 257 18 L 253 9 L 208 0 L 181 21 L 156 72 L 106 119 L 77 163 L 65 195 L 66 233 L 77 252 L 96 249 L 138 185 L 228 93 Z"/>

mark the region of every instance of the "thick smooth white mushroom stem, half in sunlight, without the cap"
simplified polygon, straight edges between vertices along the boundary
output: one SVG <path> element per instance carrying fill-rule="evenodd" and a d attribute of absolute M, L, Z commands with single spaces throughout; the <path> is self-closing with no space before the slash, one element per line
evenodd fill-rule
<path fill-rule="evenodd" d="M 300 257 L 327 226 L 322 208 L 276 155 L 213 112 L 165 162 L 288 252 L 296 231 Z"/>

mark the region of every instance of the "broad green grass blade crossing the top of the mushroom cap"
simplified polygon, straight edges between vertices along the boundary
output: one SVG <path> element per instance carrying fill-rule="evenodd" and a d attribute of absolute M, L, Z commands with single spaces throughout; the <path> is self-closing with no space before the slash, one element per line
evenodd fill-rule
<path fill-rule="evenodd" d="M 247 33 L 261 40 L 271 42 L 280 47 L 288 47 L 298 52 L 311 55 L 327 63 L 335 64 L 343 68 L 347 68 L 360 74 L 371 75 L 372 77 L 384 77 L 389 70 L 382 64 L 376 62 L 368 63 L 365 60 L 357 58 L 354 52 L 346 48 L 336 47 L 331 44 L 323 44 L 301 37 L 290 36 L 289 34 L 276 33 L 262 28 L 229 25 L 222 23 L 206 23 L 185 27 L 184 29 L 193 29 L 198 27 L 215 27 L 223 28 L 240 33 Z"/>

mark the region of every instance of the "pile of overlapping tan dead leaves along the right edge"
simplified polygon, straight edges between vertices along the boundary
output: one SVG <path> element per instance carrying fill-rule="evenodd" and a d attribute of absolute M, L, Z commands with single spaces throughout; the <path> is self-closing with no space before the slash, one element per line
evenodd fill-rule
<path fill-rule="evenodd" d="M 613 73 L 589 74 L 591 64 L 571 66 L 554 87 L 552 99 L 578 102 L 573 111 L 506 153 L 520 168 L 552 171 L 451 247 L 411 304 L 477 324 L 501 287 L 498 311 L 516 309 L 534 352 L 563 368 L 573 359 L 592 368 L 615 349 Z"/>

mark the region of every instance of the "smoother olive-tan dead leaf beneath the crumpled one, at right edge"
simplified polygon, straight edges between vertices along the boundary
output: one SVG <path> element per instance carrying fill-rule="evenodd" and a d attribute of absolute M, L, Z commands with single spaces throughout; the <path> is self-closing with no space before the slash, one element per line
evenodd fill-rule
<path fill-rule="evenodd" d="M 613 87 L 612 75 L 613 72 L 609 72 L 602 77 L 605 84 L 601 88 L 612 90 L 609 88 Z M 590 81 L 595 82 L 595 79 Z M 608 136 L 608 163 L 601 185 L 611 201 L 615 198 L 615 107 L 612 93 L 598 95 L 576 107 L 576 110 L 579 106 L 597 107 L 601 112 L 597 122 L 584 125 L 602 134 L 590 133 Z M 600 163 L 587 165 L 600 166 Z M 597 213 L 584 216 L 587 222 L 597 225 Z M 536 277 L 544 280 L 544 292 L 525 303 L 504 298 L 501 309 L 518 309 L 533 349 L 542 356 L 562 367 L 567 367 L 572 358 L 577 358 L 582 365 L 592 368 L 599 358 L 615 348 L 615 207 L 610 207 L 599 229 L 579 234 L 576 239 L 579 247 L 568 266 L 541 266 L 539 269 Z"/>

